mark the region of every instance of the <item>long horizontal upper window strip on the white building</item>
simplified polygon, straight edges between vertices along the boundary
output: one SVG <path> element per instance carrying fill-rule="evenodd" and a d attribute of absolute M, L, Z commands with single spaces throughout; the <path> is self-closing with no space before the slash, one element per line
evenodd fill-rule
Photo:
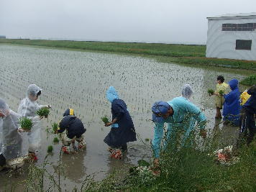
<path fill-rule="evenodd" d="M 244 24 L 234 24 L 227 23 L 222 24 L 222 31 L 228 32 L 252 32 L 256 31 L 256 23 L 244 23 Z"/>

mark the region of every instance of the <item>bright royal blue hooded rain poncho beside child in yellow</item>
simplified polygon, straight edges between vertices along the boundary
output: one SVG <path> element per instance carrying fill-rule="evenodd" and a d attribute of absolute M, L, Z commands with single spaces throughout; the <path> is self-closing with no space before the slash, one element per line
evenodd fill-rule
<path fill-rule="evenodd" d="M 223 116 L 224 121 L 229 121 L 232 124 L 238 126 L 240 119 L 240 92 L 238 88 L 237 79 L 232 79 L 229 81 L 229 86 L 232 91 L 230 91 L 227 95 L 224 94 L 224 105 L 223 105 Z"/>

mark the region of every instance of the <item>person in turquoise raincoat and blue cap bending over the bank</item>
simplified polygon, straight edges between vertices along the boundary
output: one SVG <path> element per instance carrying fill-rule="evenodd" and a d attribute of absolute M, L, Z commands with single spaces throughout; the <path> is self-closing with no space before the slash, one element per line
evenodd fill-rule
<path fill-rule="evenodd" d="M 184 88 L 190 89 L 189 86 L 184 86 Z M 182 143 L 184 144 L 195 127 L 195 120 L 198 122 L 198 126 L 201 129 L 201 136 L 204 138 L 206 137 L 206 131 L 204 130 L 206 126 L 206 117 L 197 106 L 188 101 L 187 98 L 190 98 L 191 93 L 192 90 L 184 90 L 183 96 L 176 97 L 168 102 L 157 101 L 152 106 L 152 120 L 155 122 L 152 148 L 155 155 L 154 163 L 156 165 L 159 162 L 160 143 L 161 140 L 163 140 L 163 127 L 165 123 L 168 124 L 168 128 L 165 141 L 163 142 L 164 150 L 170 142 L 170 137 L 173 137 L 173 135 L 179 131 L 178 129 L 185 131 L 182 138 Z M 175 130 L 176 128 L 178 129 Z"/>

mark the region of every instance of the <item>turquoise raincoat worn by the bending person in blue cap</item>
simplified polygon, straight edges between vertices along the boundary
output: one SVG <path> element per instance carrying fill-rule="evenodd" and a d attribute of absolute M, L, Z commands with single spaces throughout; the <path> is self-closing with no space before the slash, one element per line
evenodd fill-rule
<path fill-rule="evenodd" d="M 163 142 L 163 149 L 165 149 L 169 142 L 171 134 L 174 134 L 174 129 L 178 128 L 185 131 L 185 134 L 183 135 L 184 142 L 195 127 L 195 120 L 198 122 L 200 129 L 204 129 L 206 126 L 206 117 L 203 112 L 198 109 L 197 106 L 188 101 L 188 99 L 180 96 L 168 101 L 167 103 L 173 108 L 173 116 L 168 116 L 166 119 L 160 118 L 159 121 L 155 122 L 155 133 L 154 139 L 152 140 L 152 147 L 155 157 L 157 158 L 160 156 L 160 143 L 163 139 L 163 127 L 165 123 L 168 124 L 168 127 L 166 138 Z M 163 107 L 165 108 L 165 106 Z M 152 111 L 155 112 L 153 107 Z M 155 119 L 154 116 L 155 115 L 153 114 L 153 119 Z"/>

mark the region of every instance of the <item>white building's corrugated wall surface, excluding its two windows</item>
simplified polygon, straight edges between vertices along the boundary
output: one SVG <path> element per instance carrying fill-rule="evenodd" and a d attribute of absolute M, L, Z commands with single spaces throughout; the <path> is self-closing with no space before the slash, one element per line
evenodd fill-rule
<path fill-rule="evenodd" d="M 256 31 L 222 31 L 222 24 L 256 23 L 255 19 L 219 19 L 208 21 L 206 57 L 256 60 Z M 252 50 L 236 50 L 236 40 L 252 40 Z"/>

